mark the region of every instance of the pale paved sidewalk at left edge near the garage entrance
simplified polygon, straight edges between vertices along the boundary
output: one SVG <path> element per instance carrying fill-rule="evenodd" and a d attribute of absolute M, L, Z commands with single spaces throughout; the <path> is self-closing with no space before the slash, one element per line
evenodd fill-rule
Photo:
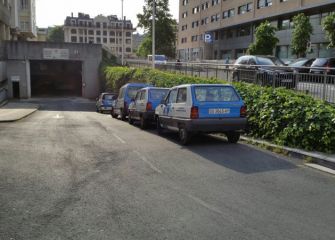
<path fill-rule="evenodd" d="M 38 105 L 24 102 L 9 102 L 0 107 L 0 123 L 15 122 L 38 110 Z"/>

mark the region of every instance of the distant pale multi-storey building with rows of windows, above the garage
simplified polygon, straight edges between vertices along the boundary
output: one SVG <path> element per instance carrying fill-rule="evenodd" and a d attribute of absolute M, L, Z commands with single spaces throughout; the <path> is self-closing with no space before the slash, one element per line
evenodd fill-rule
<path fill-rule="evenodd" d="M 122 24 L 123 32 L 122 32 Z M 133 52 L 133 24 L 131 20 L 119 19 L 115 15 L 98 15 L 91 18 L 88 14 L 78 13 L 78 17 L 67 17 L 64 23 L 65 42 L 97 43 L 108 48 L 116 56 L 121 56 L 122 45 L 126 57 Z M 123 34 L 123 44 L 122 44 Z"/>

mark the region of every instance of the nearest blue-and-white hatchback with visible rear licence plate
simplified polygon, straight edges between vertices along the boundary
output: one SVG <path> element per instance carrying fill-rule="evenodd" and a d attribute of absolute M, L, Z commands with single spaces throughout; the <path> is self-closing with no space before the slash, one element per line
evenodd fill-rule
<path fill-rule="evenodd" d="M 246 106 L 235 88 L 223 84 L 173 87 L 155 110 L 157 131 L 179 132 L 187 144 L 196 133 L 225 133 L 236 143 L 245 129 Z"/>

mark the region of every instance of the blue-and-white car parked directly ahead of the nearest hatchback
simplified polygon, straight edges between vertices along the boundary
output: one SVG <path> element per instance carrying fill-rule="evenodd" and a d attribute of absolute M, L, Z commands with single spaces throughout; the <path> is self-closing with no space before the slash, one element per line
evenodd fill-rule
<path fill-rule="evenodd" d="M 155 108 L 160 104 L 168 88 L 146 87 L 138 90 L 135 99 L 129 104 L 128 121 L 140 121 L 142 129 L 155 120 Z"/>

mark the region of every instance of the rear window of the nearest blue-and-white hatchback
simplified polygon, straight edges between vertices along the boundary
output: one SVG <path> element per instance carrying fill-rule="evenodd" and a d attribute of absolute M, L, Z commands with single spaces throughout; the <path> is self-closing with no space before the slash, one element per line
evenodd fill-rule
<path fill-rule="evenodd" d="M 229 86 L 195 87 L 195 98 L 198 102 L 237 102 L 240 100 L 236 91 Z"/>

